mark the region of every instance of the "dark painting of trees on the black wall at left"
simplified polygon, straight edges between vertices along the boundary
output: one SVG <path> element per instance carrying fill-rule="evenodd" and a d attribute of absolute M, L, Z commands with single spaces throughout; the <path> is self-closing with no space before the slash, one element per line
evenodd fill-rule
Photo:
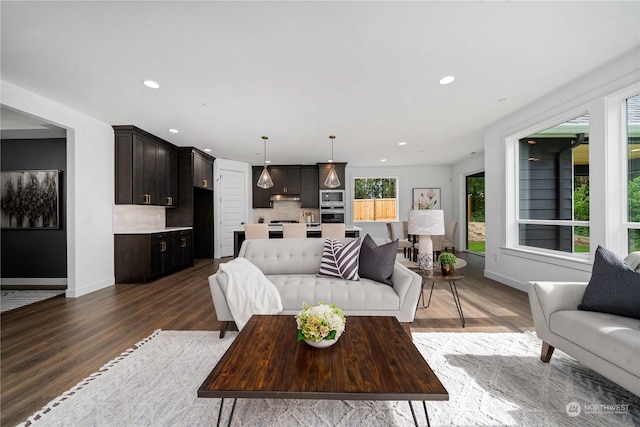
<path fill-rule="evenodd" d="M 2 172 L 2 228 L 58 229 L 59 175 L 57 170 Z"/>

